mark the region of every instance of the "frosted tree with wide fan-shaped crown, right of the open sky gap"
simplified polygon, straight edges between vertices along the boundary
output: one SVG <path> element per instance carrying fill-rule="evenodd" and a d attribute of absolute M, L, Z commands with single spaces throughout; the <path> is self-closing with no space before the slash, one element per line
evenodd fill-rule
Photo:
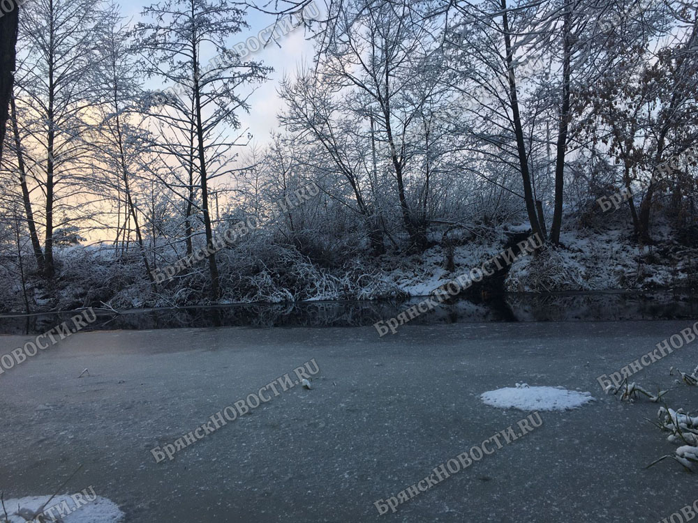
<path fill-rule="evenodd" d="M 409 162 L 414 153 L 413 130 L 419 127 L 429 100 L 443 88 L 439 82 L 443 66 L 440 54 L 433 52 L 436 38 L 429 31 L 436 30 L 435 26 L 413 23 L 413 11 L 406 1 L 380 2 L 367 8 L 356 0 L 336 9 L 330 13 L 334 24 L 327 27 L 318 73 L 331 96 L 342 93 L 347 97 L 352 119 L 359 116 L 371 126 L 371 149 L 376 141 L 385 145 L 379 149 L 385 151 L 394 176 L 403 227 L 410 244 L 423 249 L 426 223 L 410 197 Z M 383 158 L 378 163 L 380 160 Z M 358 202 L 357 197 L 360 207 Z"/>

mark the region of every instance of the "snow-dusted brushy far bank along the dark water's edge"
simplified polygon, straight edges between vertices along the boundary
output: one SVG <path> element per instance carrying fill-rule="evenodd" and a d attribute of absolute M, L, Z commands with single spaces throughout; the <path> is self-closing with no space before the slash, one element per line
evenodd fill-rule
<path fill-rule="evenodd" d="M 450 280 L 470 275 L 483 262 L 507 252 L 530 232 L 526 224 L 473 226 L 450 232 L 433 229 L 430 247 L 421 253 L 389 250 L 375 257 L 367 250 L 301 252 L 293 245 L 260 238 L 231 246 L 221 259 L 221 305 L 308 301 L 404 300 L 426 296 Z M 561 245 L 503 267 L 470 294 L 556 291 L 658 291 L 698 289 L 698 249 L 681 245 L 668 225 L 656 227 L 654 245 L 638 245 L 627 225 L 612 229 L 563 232 Z M 112 259 L 110 250 L 74 246 L 57 251 L 61 271 L 51 287 L 29 277 L 27 301 L 32 312 L 84 306 L 134 308 L 212 305 L 205 262 L 163 282 L 155 289 L 140 258 Z M 167 264 L 163 261 L 163 264 Z M 496 270 L 496 267 L 491 267 Z M 476 289 L 477 287 L 477 289 Z M 4 289 L 5 312 L 25 308 L 20 287 Z M 1 294 L 2 291 L 0 291 Z M 475 296 L 477 294 L 477 296 Z M 11 295 L 11 296 L 10 296 Z"/>

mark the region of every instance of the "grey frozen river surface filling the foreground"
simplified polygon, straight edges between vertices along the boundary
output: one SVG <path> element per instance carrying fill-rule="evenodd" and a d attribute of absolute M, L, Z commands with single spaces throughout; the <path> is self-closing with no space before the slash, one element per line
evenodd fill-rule
<path fill-rule="evenodd" d="M 207 328 L 78 333 L 0 375 L 5 499 L 93 487 L 128 522 L 658 522 L 698 498 L 674 461 L 658 405 L 622 404 L 596 377 L 651 351 L 690 321 Z M 0 354 L 31 336 L 0 337 Z M 639 372 L 670 407 L 698 393 L 698 340 Z M 297 386 L 156 463 L 209 416 L 315 359 Z M 89 377 L 78 378 L 87 368 Z M 590 391 L 543 424 L 420 493 L 396 513 L 373 502 L 514 425 L 528 412 L 480 395 L 525 381 Z M 10 508 L 8 507 L 8 510 Z M 15 508 L 16 510 L 16 508 Z M 98 522 L 95 522 L 98 523 Z"/>

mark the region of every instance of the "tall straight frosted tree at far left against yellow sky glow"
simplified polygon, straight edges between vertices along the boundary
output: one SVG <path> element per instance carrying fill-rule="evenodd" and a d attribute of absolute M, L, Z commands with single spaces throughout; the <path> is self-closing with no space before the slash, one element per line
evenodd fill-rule
<path fill-rule="evenodd" d="M 27 139 L 27 177 L 44 194 L 45 274 L 54 275 L 54 219 L 75 206 L 83 191 L 82 163 L 89 155 L 82 133 L 92 100 L 89 81 L 96 63 L 94 38 L 101 22 L 98 0 L 36 0 L 24 7 L 20 40 L 26 50 L 17 68 L 17 105 Z M 67 215 L 67 214 L 66 214 Z M 83 217 L 84 218 L 84 217 Z"/>

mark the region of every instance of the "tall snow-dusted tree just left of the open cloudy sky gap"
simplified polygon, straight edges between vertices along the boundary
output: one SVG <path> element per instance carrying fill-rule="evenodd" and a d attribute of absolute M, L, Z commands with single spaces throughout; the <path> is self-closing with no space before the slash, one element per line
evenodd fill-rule
<path fill-rule="evenodd" d="M 151 22 L 137 24 L 135 33 L 146 73 L 184 87 L 184 96 L 165 100 L 165 110 L 158 118 L 185 135 L 194 130 L 201 211 L 206 241 L 211 244 L 209 181 L 230 172 L 225 167 L 226 154 L 237 144 L 237 137 L 230 137 L 230 131 L 221 127 L 240 127 L 236 112 L 247 110 L 248 104 L 239 91 L 265 79 L 269 68 L 254 61 L 243 63 L 225 47 L 225 39 L 245 25 L 244 11 L 228 1 L 172 0 L 145 8 L 143 15 Z M 206 47 L 218 60 L 204 67 Z M 216 256 L 210 255 L 208 262 L 215 300 L 220 296 Z"/>

